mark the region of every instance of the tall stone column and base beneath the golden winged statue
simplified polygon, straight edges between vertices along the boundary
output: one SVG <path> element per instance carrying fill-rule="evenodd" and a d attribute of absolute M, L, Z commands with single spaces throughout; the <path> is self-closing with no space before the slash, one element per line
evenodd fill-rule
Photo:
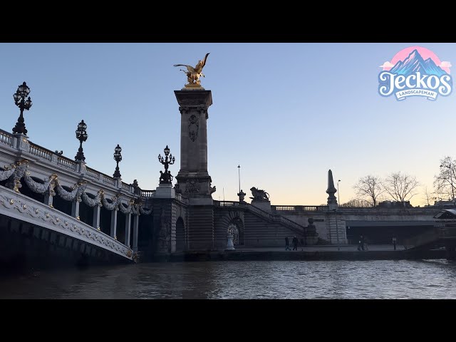
<path fill-rule="evenodd" d="M 175 90 L 180 107 L 180 170 L 175 177 L 182 195 L 189 197 L 188 248 L 212 249 L 214 207 L 212 179 L 207 172 L 207 108 L 212 105 L 210 90 Z"/>

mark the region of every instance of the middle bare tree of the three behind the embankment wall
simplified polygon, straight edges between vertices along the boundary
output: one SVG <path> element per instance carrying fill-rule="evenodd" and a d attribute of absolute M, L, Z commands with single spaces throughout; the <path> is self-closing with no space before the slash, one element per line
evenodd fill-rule
<path fill-rule="evenodd" d="M 405 205 L 405 202 L 410 201 L 417 194 L 420 182 L 415 176 L 392 172 L 383 180 L 382 186 L 391 199 Z"/>

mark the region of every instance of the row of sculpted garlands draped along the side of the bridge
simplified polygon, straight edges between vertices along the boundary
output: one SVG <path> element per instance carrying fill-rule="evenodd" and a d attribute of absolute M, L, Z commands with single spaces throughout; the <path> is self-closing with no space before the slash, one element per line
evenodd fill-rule
<path fill-rule="evenodd" d="M 55 187 L 58 192 L 58 195 L 66 201 L 73 201 L 76 198 L 78 202 L 81 202 L 82 200 L 89 207 L 95 207 L 95 205 L 101 204 L 108 210 L 120 209 L 120 212 L 122 212 L 123 214 L 149 215 L 152 213 L 152 207 L 150 209 L 143 209 L 140 205 L 138 206 L 133 204 L 133 201 L 128 202 L 127 208 L 123 207 L 123 204 L 121 204 L 121 199 L 119 196 L 113 197 L 113 203 L 109 203 L 105 199 L 103 190 L 99 190 L 96 197 L 92 199 L 87 195 L 87 185 L 83 182 L 78 182 L 77 184 L 73 185 L 73 190 L 71 192 L 68 192 L 65 189 L 63 189 L 63 187 L 60 185 L 57 178 L 58 176 L 56 174 L 49 176 L 48 180 L 46 180 L 44 183 L 35 182 L 31 178 L 30 172 L 26 172 L 26 169 L 28 167 L 28 160 L 16 162 L 16 165 L 11 165 L 11 167 L 11 170 L 0 171 L 0 180 L 1 177 L 3 177 L 4 175 L 5 178 L 3 180 L 6 180 L 9 177 L 13 177 L 9 184 L 11 185 L 11 187 L 13 187 L 14 191 L 16 192 L 19 192 L 19 187 L 21 187 L 20 180 L 22 177 L 24 177 L 24 181 L 26 182 L 26 185 L 30 188 L 30 190 L 38 194 L 48 192 L 50 196 L 54 196 L 56 195 L 56 192 L 54 192 Z M 6 177 L 6 175 L 8 174 L 9 177 Z"/>

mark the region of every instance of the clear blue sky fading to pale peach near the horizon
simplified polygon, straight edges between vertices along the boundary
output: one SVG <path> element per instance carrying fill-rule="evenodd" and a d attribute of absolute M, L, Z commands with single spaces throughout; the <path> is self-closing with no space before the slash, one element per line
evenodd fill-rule
<path fill-rule="evenodd" d="M 456 66 L 455 43 L 0 43 L 0 128 L 14 127 L 13 93 L 26 81 L 32 142 L 74 159 L 83 119 L 87 165 L 112 175 L 120 144 L 123 181 L 154 190 L 165 145 L 176 157 L 172 175 L 180 168 L 173 90 L 187 78 L 172 65 L 194 66 L 209 52 L 202 86 L 214 102 L 207 122 L 214 199 L 238 199 L 238 165 L 247 197 L 258 187 L 272 204 L 326 203 L 328 169 L 341 180 L 342 203 L 369 174 L 406 172 L 432 188 L 440 159 L 456 157 L 456 94 L 435 102 L 381 97 L 378 66 L 408 46 Z M 424 195 L 412 200 L 424 202 Z"/>

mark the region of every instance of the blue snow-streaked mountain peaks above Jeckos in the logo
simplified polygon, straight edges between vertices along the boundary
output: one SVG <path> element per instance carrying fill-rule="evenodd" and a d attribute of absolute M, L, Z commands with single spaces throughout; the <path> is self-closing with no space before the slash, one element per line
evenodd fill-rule
<path fill-rule="evenodd" d="M 417 71 L 427 75 L 447 75 L 440 66 L 435 65 L 431 58 L 424 60 L 417 49 L 413 50 L 404 61 L 398 61 L 398 63 L 390 69 L 390 73 L 398 75 L 410 75 L 410 73 L 415 73 Z"/>

